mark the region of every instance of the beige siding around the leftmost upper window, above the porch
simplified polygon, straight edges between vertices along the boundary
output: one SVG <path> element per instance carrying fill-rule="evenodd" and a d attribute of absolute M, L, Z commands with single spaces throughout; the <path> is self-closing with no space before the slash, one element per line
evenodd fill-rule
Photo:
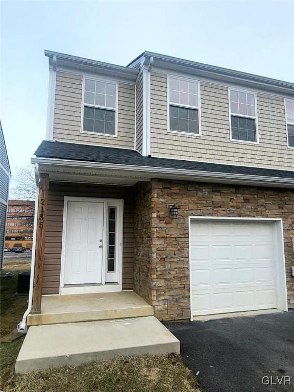
<path fill-rule="evenodd" d="M 81 133 L 82 86 L 81 75 L 57 72 L 53 138 L 133 150 L 135 85 L 118 83 L 117 137 Z"/>

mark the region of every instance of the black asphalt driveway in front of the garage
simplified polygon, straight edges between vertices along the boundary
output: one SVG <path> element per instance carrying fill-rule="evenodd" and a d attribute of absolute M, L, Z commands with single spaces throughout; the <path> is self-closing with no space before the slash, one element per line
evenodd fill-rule
<path fill-rule="evenodd" d="M 294 392 L 293 311 L 165 326 L 206 392 Z"/>

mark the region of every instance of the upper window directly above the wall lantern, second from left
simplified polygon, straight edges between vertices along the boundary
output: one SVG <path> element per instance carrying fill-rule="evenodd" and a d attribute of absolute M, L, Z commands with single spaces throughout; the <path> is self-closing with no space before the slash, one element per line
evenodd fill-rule
<path fill-rule="evenodd" d="M 199 83 L 169 77 L 169 131 L 200 135 Z"/>

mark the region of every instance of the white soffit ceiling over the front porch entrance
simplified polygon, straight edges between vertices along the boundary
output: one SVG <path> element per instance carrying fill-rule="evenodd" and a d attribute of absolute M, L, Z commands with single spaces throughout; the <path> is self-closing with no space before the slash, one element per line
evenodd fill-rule
<path fill-rule="evenodd" d="M 117 170 L 90 167 L 39 165 L 39 173 L 48 173 L 51 181 L 99 183 L 114 185 L 135 185 L 139 181 L 149 181 L 146 176 L 121 174 Z"/>

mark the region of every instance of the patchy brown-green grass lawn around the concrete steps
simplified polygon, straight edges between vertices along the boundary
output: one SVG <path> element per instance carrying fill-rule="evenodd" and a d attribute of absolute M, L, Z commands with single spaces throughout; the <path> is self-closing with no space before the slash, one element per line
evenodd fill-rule
<path fill-rule="evenodd" d="M 15 275 L 1 282 L 1 335 L 11 332 L 27 308 L 27 297 L 15 297 L 17 273 L 29 262 L 6 262 Z M 23 338 L 1 343 L 1 390 L 5 392 L 200 392 L 180 356 L 118 358 L 14 376 L 14 363 Z"/>

